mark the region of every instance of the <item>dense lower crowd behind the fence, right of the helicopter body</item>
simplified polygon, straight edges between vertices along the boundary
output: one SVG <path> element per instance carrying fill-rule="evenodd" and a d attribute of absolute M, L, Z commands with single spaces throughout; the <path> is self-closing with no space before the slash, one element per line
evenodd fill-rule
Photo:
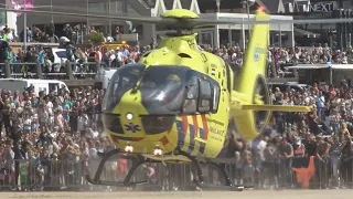
<path fill-rule="evenodd" d="M 243 170 L 236 179 L 259 188 L 291 188 L 297 180 L 292 167 L 302 157 L 315 156 L 314 187 L 352 188 L 353 106 L 346 82 L 339 86 L 314 84 L 300 91 L 277 87 L 271 97 L 274 104 L 307 105 L 312 112 L 274 113 L 270 126 L 253 143 L 229 139 L 228 153 L 235 154 L 235 167 Z"/>

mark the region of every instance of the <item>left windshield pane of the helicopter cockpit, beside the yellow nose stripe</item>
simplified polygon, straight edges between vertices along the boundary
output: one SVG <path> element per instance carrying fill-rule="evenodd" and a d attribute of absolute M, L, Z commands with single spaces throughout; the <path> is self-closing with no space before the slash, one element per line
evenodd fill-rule
<path fill-rule="evenodd" d="M 107 94 L 103 103 L 104 112 L 111 112 L 120 102 L 122 95 L 137 85 L 143 70 L 143 64 L 132 64 L 120 67 L 115 72 L 109 81 Z"/>

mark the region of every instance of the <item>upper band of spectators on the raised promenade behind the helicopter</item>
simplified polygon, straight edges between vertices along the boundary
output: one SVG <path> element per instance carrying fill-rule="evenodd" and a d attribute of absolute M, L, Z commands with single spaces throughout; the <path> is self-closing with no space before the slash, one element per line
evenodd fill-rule
<path fill-rule="evenodd" d="M 67 29 L 72 29 L 67 27 Z M 90 31 L 96 31 L 90 29 Z M 68 31 L 69 32 L 69 31 Z M 67 33 L 69 39 L 74 39 L 72 33 Z M 105 36 L 105 41 L 114 41 L 111 36 Z M 138 61 L 138 57 L 146 51 L 153 49 L 154 45 L 145 45 L 145 46 L 133 46 L 125 45 L 116 49 L 104 49 L 100 46 L 95 46 L 94 44 L 87 44 L 84 46 L 76 46 L 74 44 L 63 46 L 66 49 L 66 53 L 60 53 L 60 60 L 55 59 L 53 52 L 47 46 L 29 46 L 26 50 L 19 49 L 12 51 L 11 46 L 6 49 L 2 52 L 3 60 L 8 60 L 10 63 L 35 63 L 40 61 L 45 65 L 46 72 L 64 72 L 65 64 L 62 60 L 69 60 L 76 63 L 76 72 L 93 72 L 85 71 L 83 69 L 88 69 L 84 66 L 83 63 L 86 62 L 103 62 L 105 65 L 110 67 L 119 67 L 127 63 L 135 63 Z M 233 46 L 233 48 L 215 48 L 212 49 L 208 45 L 202 45 L 203 50 L 212 52 L 220 55 L 225 61 L 235 64 L 242 65 L 244 62 L 245 51 Z M 268 76 L 278 77 L 284 76 L 287 73 L 285 69 L 286 65 L 290 64 L 351 64 L 353 63 L 353 53 L 352 50 L 346 50 L 342 52 L 340 50 L 331 50 L 327 44 L 319 44 L 318 46 L 312 48 L 272 48 L 268 50 Z M 81 65 L 81 66 L 79 66 Z M 31 67 L 28 65 L 17 65 L 17 70 L 13 70 L 14 73 L 20 71 L 25 71 L 24 69 Z M 33 70 L 35 71 L 35 70 Z"/>

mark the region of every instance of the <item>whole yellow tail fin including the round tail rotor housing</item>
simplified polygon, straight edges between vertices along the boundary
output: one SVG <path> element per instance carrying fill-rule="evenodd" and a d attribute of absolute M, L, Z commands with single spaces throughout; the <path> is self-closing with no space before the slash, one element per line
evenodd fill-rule
<path fill-rule="evenodd" d="M 269 20 L 269 15 L 258 11 L 256 21 L 263 20 Z M 270 119 L 270 111 L 257 111 L 271 104 L 266 85 L 268 36 L 268 23 L 253 25 L 252 36 L 245 53 L 246 56 L 238 80 L 236 80 L 236 92 L 233 92 L 232 95 L 233 102 L 239 100 L 243 105 L 248 105 L 236 107 L 237 104 L 234 103 L 232 108 L 234 109 L 233 116 L 237 129 L 244 138 L 253 139 L 258 136 Z M 260 91 L 265 91 L 265 93 L 259 92 L 258 87 L 263 87 L 264 90 L 261 88 Z M 267 102 L 261 102 L 260 95 L 265 95 L 264 100 Z M 256 105 L 256 107 L 254 105 Z M 239 112 L 239 109 L 242 111 Z"/>

